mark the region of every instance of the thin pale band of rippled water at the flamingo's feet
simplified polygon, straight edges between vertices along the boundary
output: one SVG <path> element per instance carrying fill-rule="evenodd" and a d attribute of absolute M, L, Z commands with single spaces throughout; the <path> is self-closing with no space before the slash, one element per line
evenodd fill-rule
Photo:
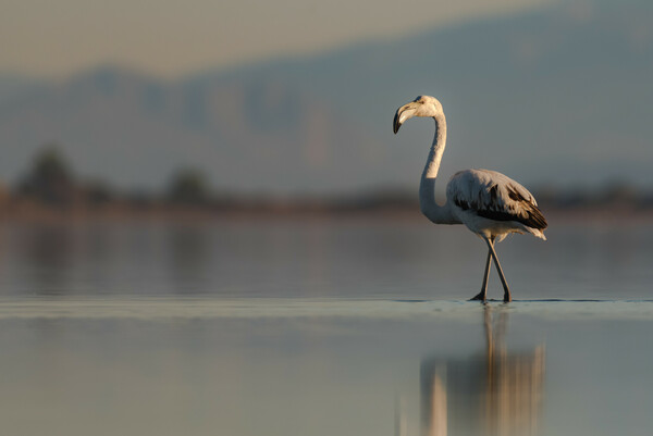
<path fill-rule="evenodd" d="M 489 301 L 498 311 L 546 319 L 653 319 L 653 300 Z M 299 298 L 78 298 L 3 299 L 0 320 L 8 319 L 261 319 L 261 317 L 452 317 L 476 321 L 483 304 L 457 300 L 356 300 Z"/>

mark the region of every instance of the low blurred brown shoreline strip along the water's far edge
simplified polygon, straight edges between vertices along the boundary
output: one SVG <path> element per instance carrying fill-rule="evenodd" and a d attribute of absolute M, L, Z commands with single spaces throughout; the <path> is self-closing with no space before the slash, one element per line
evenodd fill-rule
<path fill-rule="evenodd" d="M 653 224 L 653 208 L 633 204 L 582 205 L 559 208 L 543 205 L 550 224 L 565 222 L 649 222 Z M 241 204 L 170 204 L 152 202 L 133 204 L 48 205 L 35 201 L 3 201 L 0 222 L 58 223 L 58 222 L 211 222 L 257 220 L 401 220 L 421 221 L 424 217 L 417 203 L 347 203 L 329 202 L 248 202 Z"/>

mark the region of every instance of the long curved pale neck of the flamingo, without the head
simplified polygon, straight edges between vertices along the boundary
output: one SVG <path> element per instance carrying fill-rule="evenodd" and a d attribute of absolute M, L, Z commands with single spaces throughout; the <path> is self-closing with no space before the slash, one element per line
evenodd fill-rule
<path fill-rule="evenodd" d="M 435 201 L 435 179 L 446 146 L 446 120 L 444 114 L 435 115 L 433 119 L 435 120 L 435 135 L 419 185 L 419 204 L 422 213 L 433 223 L 457 224 L 459 221 L 453 216 L 448 203 L 440 205 Z"/>

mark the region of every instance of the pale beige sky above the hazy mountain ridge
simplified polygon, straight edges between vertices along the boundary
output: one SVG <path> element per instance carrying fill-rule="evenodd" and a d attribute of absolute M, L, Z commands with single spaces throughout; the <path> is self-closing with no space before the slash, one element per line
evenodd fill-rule
<path fill-rule="evenodd" d="M 3 0 L 0 72 L 119 64 L 174 78 L 517 13 L 555 0 Z"/>

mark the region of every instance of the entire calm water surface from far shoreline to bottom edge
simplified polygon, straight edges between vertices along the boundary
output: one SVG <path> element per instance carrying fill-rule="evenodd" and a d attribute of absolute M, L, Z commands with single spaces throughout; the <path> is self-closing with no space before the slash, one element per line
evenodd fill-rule
<path fill-rule="evenodd" d="M 651 434 L 653 225 L 4 225 L 13 435 Z M 490 296 L 500 298 L 493 277 Z"/>

